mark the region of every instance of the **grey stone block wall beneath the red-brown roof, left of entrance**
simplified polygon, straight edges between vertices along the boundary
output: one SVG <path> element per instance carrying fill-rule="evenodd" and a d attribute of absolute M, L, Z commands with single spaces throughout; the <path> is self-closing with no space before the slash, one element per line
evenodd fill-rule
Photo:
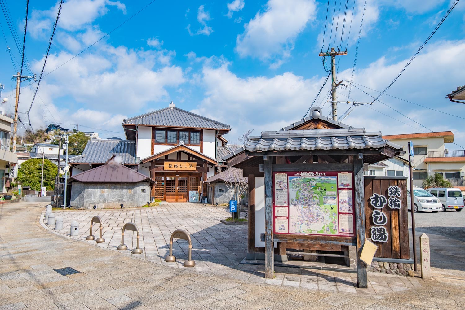
<path fill-rule="evenodd" d="M 74 208 L 97 209 L 140 207 L 150 201 L 150 183 L 80 183 L 73 182 L 71 205 Z"/>

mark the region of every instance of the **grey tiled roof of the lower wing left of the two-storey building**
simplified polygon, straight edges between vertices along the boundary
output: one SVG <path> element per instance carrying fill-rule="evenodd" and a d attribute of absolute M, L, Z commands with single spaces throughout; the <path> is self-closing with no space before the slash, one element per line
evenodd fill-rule
<path fill-rule="evenodd" d="M 135 157 L 136 141 L 134 140 L 89 140 L 82 155 L 70 159 L 71 164 L 104 164 L 113 155 L 120 156 L 123 164 L 138 164 Z"/>

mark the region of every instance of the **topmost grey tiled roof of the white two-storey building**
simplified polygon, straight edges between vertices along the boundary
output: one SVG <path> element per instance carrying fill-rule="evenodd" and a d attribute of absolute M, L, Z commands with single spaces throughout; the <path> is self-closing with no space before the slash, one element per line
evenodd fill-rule
<path fill-rule="evenodd" d="M 123 125 L 231 129 L 231 126 L 229 125 L 219 123 L 213 119 L 207 119 L 206 117 L 179 109 L 175 106 L 169 106 L 167 108 L 135 116 L 130 119 L 123 119 Z"/>

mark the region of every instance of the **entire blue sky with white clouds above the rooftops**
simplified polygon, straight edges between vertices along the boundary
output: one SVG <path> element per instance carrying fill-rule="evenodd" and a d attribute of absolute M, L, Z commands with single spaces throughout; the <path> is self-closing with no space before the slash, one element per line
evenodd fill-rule
<path fill-rule="evenodd" d="M 26 1 L 3 1 L 22 41 Z M 65 1 L 45 73 L 149 2 Z M 38 75 L 57 3 L 30 1 L 26 56 L 31 71 Z M 182 109 L 230 124 L 233 131 L 227 139 L 232 142 L 248 129 L 255 134 L 278 130 L 302 119 L 326 78 L 318 56 L 323 40 L 325 51 L 343 42 L 340 48 L 347 48 L 348 55 L 337 59 L 338 80 L 351 79 L 364 1 L 347 1 L 341 39 L 345 4 L 345 0 L 329 1 L 324 32 L 327 1 L 157 0 L 42 79 L 40 97 L 31 113 L 33 128 L 50 122 L 69 128 L 79 124 L 80 130 L 98 129 L 103 138 L 124 137 L 122 119 L 165 107 L 173 100 Z M 367 0 L 353 81 L 384 90 L 450 5 L 451 1 L 445 0 Z M 445 99 L 447 93 L 465 84 L 465 64 L 461 61 L 465 53 L 464 17 L 465 4 L 459 3 L 387 93 L 464 117 L 465 105 Z M 10 79 L 18 65 L 13 64 L 9 53 L 18 60 L 20 53 L 5 17 L 0 15 L 0 19 L 5 33 L 0 40 L 0 81 L 5 84 L 2 96 L 10 96 L 4 108 L 13 112 L 14 82 Z M 373 96 L 378 94 L 359 87 Z M 326 103 L 329 89 L 328 82 L 315 104 L 322 106 L 325 116 L 330 113 Z M 346 87 L 338 92 L 339 100 L 347 100 Z M 26 87 L 21 91 L 19 109 L 24 118 L 31 99 L 32 89 Z M 351 100 L 370 99 L 352 87 Z M 380 100 L 433 131 L 452 130 L 457 145 L 449 148 L 464 148 L 464 119 L 386 95 Z M 348 107 L 339 104 L 339 115 Z M 394 110 L 380 102 L 358 106 L 344 123 L 384 134 L 428 132 Z"/>

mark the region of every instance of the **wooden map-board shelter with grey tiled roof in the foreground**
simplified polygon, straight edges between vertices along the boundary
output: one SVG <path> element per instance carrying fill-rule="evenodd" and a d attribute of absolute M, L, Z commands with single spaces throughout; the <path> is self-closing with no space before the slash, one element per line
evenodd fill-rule
<path fill-rule="evenodd" d="M 358 286 L 365 288 L 366 264 L 359 256 L 371 212 L 365 213 L 363 167 L 405 152 L 381 132 L 322 117 L 319 108 L 310 115 L 280 131 L 251 136 L 223 158 L 249 178 L 246 259 L 264 257 L 265 277 L 273 278 L 275 260 L 287 260 L 286 248 L 355 246 Z"/>

